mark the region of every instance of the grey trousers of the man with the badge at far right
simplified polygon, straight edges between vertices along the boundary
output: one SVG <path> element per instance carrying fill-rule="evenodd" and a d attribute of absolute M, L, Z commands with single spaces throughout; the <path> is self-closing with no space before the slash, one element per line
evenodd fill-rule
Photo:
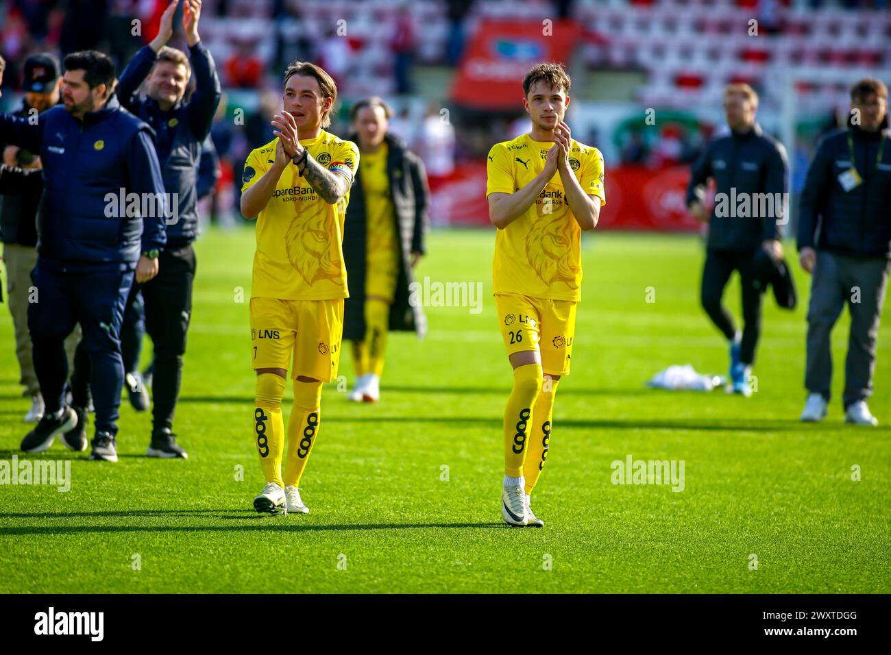
<path fill-rule="evenodd" d="M 845 361 L 845 406 L 872 394 L 879 317 L 885 301 L 887 258 L 852 258 L 821 250 L 813 267 L 807 309 L 805 387 L 829 400 L 832 385 L 830 334 L 847 305 L 851 315 Z"/>

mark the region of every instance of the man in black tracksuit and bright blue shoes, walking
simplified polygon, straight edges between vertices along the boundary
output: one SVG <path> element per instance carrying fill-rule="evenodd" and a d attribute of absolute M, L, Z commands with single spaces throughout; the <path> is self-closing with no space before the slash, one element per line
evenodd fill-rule
<path fill-rule="evenodd" d="M 764 285 L 753 266 L 759 249 L 775 261 L 782 258 L 788 166 L 786 151 L 755 122 L 758 96 L 748 85 L 728 86 L 724 111 L 729 135 L 716 138 L 694 164 L 687 189 L 687 206 L 701 221 L 708 220 L 706 263 L 701 301 L 709 318 L 730 342 L 730 378 L 734 393 L 751 395 L 749 373 L 761 333 Z M 703 206 L 708 178 L 715 179 L 715 207 Z M 721 304 L 733 271 L 742 286 L 742 334 Z"/>

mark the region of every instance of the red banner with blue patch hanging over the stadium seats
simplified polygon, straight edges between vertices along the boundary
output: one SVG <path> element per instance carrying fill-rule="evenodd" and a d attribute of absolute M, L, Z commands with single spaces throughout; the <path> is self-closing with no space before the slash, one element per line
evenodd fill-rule
<path fill-rule="evenodd" d="M 480 110 L 516 110 L 529 69 L 542 61 L 568 64 L 580 33 L 572 20 L 483 20 L 458 67 L 453 101 Z"/>

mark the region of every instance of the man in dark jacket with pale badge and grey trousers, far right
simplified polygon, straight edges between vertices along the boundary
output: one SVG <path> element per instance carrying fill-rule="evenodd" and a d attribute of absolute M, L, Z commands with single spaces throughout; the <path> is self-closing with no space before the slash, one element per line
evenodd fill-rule
<path fill-rule="evenodd" d="M 846 422 L 876 425 L 866 404 L 876 367 L 879 317 L 891 258 L 891 136 L 887 86 L 865 78 L 851 89 L 846 130 L 823 138 L 807 171 L 798 218 L 801 266 L 813 274 L 807 311 L 808 390 L 801 420 L 826 415 L 832 382 L 830 333 L 851 314 L 845 363 Z"/>

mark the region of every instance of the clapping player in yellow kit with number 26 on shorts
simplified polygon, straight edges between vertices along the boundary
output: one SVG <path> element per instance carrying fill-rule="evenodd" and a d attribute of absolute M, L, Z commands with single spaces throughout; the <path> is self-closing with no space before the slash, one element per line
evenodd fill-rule
<path fill-rule="evenodd" d="M 504 412 L 502 518 L 544 526 L 530 495 L 547 460 L 557 384 L 568 375 L 582 298 L 581 234 L 597 225 L 603 156 L 563 122 L 570 80 L 542 63 L 523 80 L 528 134 L 489 151 L 486 197 L 495 235 L 493 291 L 513 389 Z"/>

